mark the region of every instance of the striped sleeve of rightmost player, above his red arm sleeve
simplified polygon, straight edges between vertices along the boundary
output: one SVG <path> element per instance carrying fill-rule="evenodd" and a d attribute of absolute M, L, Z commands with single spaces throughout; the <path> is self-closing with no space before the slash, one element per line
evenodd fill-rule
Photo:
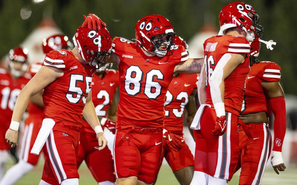
<path fill-rule="evenodd" d="M 277 82 L 280 80 L 280 66 L 276 63 L 269 62 L 261 74 L 262 81 Z"/>

